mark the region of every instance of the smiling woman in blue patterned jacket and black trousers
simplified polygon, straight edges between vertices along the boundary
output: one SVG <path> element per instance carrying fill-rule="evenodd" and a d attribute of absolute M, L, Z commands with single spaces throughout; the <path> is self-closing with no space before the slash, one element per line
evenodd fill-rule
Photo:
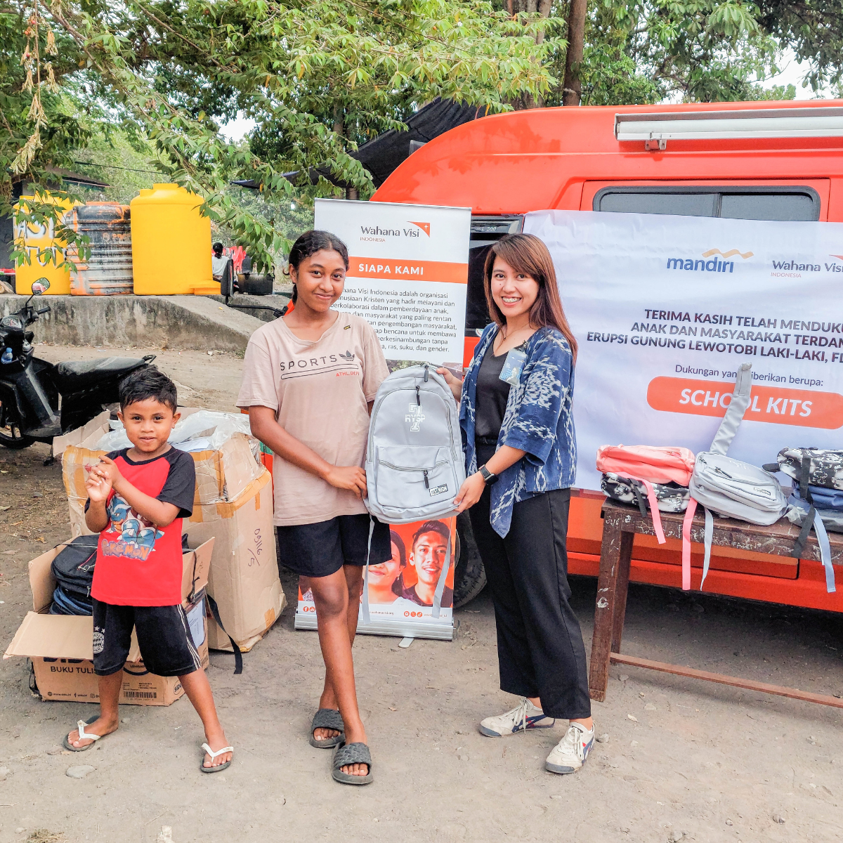
<path fill-rule="evenodd" d="M 493 319 L 465 379 L 440 369 L 460 401 L 467 480 L 459 512 L 491 588 L 501 690 L 518 706 L 481 722 L 502 738 L 568 720 L 545 769 L 579 770 L 594 727 L 585 646 L 568 599 L 566 534 L 577 466 L 572 416 L 577 341 L 562 310 L 553 260 L 531 234 L 491 247 L 484 269 Z"/>

